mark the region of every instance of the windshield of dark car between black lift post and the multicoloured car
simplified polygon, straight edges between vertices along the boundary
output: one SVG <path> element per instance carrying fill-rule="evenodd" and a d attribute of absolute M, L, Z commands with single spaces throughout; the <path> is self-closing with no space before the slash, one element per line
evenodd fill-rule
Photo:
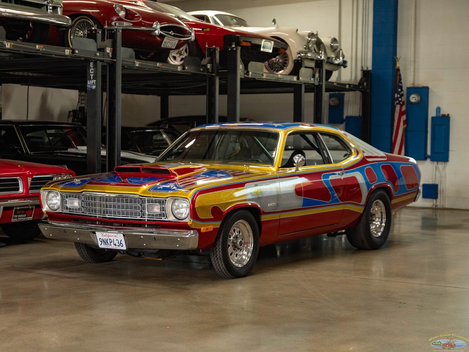
<path fill-rule="evenodd" d="M 138 151 L 144 154 L 159 154 L 179 137 L 176 132 L 160 130 L 137 130 L 131 131 L 130 135 Z"/>

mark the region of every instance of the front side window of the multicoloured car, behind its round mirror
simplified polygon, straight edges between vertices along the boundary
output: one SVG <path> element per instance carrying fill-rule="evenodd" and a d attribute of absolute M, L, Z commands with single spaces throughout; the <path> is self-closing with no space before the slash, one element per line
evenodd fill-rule
<path fill-rule="evenodd" d="M 302 154 L 305 157 L 305 166 L 325 164 L 315 132 L 290 133 L 287 136 L 280 168 L 295 167 L 293 157 L 296 154 Z"/>

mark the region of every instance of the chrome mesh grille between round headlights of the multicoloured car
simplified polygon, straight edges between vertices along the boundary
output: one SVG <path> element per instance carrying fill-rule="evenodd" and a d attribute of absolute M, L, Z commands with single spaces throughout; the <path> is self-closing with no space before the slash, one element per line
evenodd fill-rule
<path fill-rule="evenodd" d="M 166 199 L 101 193 L 61 193 L 61 196 L 63 213 L 110 219 L 167 220 Z M 68 207 L 68 199 L 71 198 L 79 200 L 79 207 Z M 159 214 L 148 214 L 147 204 L 159 204 Z"/>

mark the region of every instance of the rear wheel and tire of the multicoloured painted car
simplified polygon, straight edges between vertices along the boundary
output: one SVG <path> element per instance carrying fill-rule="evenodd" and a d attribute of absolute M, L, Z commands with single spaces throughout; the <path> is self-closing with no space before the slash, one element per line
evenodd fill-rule
<path fill-rule="evenodd" d="M 348 242 L 358 249 L 378 249 L 383 246 L 391 230 L 391 201 L 382 189 L 371 193 L 362 218 L 346 231 Z"/>

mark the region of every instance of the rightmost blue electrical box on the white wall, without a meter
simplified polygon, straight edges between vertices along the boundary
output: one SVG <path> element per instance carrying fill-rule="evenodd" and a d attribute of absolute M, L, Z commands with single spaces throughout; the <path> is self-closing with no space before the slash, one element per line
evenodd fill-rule
<path fill-rule="evenodd" d="M 449 160 L 449 116 L 431 117 L 430 160 Z"/>

